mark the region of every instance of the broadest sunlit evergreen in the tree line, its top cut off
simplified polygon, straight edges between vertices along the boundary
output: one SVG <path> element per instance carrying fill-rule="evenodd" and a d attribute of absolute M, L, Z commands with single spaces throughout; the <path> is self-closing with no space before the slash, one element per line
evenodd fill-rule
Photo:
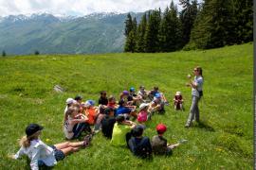
<path fill-rule="evenodd" d="M 205 0 L 192 29 L 191 43 L 198 48 L 221 47 L 235 42 L 233 0 Z"/>

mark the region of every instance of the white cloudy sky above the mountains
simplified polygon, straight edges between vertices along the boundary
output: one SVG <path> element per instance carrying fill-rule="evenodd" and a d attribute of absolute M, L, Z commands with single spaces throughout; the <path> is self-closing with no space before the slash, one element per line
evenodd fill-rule
<path fill-rule="evenodd" d="M 166 8 L 171 0 L 0 0 L 0 16 L 47 12 L 86 15 L 93 12 L 145 11 Z M 178 0 L 174 0 L 178 5 Z"/>

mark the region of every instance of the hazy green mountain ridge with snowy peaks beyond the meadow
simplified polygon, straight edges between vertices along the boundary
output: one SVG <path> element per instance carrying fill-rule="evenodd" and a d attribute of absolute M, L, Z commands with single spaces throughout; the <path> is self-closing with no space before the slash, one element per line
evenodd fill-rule
<path fill-rule="evenodd" d="M 143 13 L 132 13 L 137 19 Z M 0 17 L 0 51 L 8 55 L 88 54 L 123 51 L 127 13 L 54 16 L 48 13 Z"/>

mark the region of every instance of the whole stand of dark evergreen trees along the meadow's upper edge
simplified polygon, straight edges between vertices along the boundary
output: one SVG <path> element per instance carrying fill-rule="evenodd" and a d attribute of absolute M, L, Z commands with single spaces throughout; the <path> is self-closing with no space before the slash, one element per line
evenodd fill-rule
<path fill-rule="evenodd" d="M 140 22 L 128 13 L 124 52 L 155 53 L 209 49 L 253 41 L 253 1 L 179 0 L 147 11 Z"/>

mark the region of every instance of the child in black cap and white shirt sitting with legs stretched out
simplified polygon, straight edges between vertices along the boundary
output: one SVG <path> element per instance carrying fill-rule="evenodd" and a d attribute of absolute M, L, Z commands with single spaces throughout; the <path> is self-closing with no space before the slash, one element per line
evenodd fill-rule
<path fill-rule="evenodd" d="M 26 136 L 24 136 L 20 145 L 21 148 L 15 155 L 9 156 L 17 160 L 22 155 L 27 155 L 31 160 L 30 167 L 32 170 L 39 169 L 39 166 L 54 166 L 57 161 L 64 160 L 69 153 L 76 152 L 82 147 L 89 145 L 91 136 L 85 136 L 84 141 L 77 143 L 62 143 L 54 145 L 46 145 L 39 136 L 44 127 L 37 124 L 30 124 L 26 127 Z"/>

